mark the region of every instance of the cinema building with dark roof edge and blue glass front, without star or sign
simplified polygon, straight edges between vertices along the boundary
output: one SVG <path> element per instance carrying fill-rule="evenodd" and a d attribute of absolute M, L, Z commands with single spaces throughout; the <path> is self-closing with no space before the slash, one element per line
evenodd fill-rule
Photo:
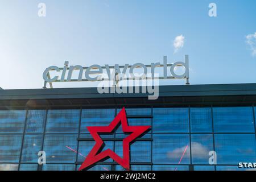
<path fill-rule="evenodd" d="M 108 126 L 122 107 L 130 126 L 151 126 L 130 146 L 133 171 L 251 170 L 238 163 L 256 161 L 255 104 L 256 84 L 160 86 L 157 100 L 97 88 L 2 89 L 0 170 L 77 170 L 95 143 L 86 127 Z M 101 138 L 122 156 L 120 128 Z M 109 158 L 90 170 L 123 168 Z"/>

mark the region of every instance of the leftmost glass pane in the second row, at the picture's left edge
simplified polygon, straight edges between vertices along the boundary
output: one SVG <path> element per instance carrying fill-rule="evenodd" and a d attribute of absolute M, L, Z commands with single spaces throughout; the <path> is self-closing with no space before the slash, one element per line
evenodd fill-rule
<path fill-rule="evenodd" d="M 22 135 L 0 135 L 0 162 L 19 162 Z"/>

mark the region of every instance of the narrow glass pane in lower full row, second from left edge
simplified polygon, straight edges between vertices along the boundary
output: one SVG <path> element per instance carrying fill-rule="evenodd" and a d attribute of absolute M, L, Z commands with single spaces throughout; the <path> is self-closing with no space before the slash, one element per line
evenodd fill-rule
<path fill-rule="evenodd" d="M 43 135 L 25 135 L 22 162 L 38 162 L 38 152 L 42 150 Z"/>

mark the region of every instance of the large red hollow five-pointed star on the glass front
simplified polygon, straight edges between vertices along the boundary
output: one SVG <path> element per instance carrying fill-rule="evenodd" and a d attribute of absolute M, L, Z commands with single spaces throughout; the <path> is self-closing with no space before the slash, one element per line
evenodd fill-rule
<path fill-rule="evenodd" d="M 123 158 L 115 154 L 110 148 L 100 152 L 104 142 L 102 141 L 99 133 L 113 133 L 117 128 L 119 122 L 122 125 L 123 133 L 131 133 L 128 137 L 123 139 Z M 86 156 L 84 163 L 82 163 L 79 171 L 82 169 L 87 169 L 93 164 L 104 160 L 106 158 L 112 158 L 115 162 L 120 164 L 123 168 L 130 169 L 130 143 L 133 142 L 136 138 L 141 136 L 145 131 L 150 129 L 151 126 L 128 126 L 125 107 L 117 114 L 114 120 L 110 123 L 109 126 L 88 126 L 87 129 L 92 135 L 93 139 L 96 141 L 96 144 Z M 100 152 L 100 153 L 99 153 Z"/>

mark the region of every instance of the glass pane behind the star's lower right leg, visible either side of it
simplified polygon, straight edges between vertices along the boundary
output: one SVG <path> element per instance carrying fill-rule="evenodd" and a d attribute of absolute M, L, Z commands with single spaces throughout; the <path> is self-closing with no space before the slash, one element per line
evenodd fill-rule
<path fill-rule="evenodd" d="M 123 142 L 115 142 L 115 153 L 123 157 Z M 131 162 L 151 162 L 151 142 L 136 141 L 130 146 Z"/>

